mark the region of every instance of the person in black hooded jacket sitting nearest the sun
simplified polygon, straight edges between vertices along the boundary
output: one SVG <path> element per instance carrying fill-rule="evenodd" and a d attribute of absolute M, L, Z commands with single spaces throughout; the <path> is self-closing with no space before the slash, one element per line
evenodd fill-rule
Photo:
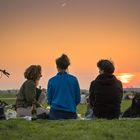
<path fill-rule="evenodd" d="M 96 118 L 119 118 L 123 87 L 114 75 L 115 67 L 110 60 L 97 63 L 99 75 L 90 85 L 90 106 Z"/>

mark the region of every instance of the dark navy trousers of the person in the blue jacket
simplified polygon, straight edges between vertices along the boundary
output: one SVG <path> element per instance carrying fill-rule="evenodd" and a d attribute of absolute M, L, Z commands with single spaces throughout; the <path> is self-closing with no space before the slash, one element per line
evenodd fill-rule
<path fill-rule="evenodd" d="M 56 110 L 51 108 L 49 119 L 50 120 L 61 120 L 61 119 L 76 119 L 77 114 L 75 112 L 67 112 L 62 110 Z"/>

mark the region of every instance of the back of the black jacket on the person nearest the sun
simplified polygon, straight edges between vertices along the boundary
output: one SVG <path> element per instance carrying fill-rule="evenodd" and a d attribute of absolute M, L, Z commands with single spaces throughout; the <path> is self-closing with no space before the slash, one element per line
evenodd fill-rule
<path fill-rule="evenodd" d="M 114 75 L 99 75 L 91 84 L 94 92 L 93 111 L 98 118 L 118 118 L 122 86 Z"/>

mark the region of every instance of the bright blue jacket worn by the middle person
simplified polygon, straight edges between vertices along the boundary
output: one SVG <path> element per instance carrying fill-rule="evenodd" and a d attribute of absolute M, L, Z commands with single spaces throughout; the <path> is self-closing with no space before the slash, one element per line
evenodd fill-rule
<path fill-rule="evenodd" d="M 76 105 L 80 100 L 80 98 L 76 98 L 76 96 L 79 96 L 77 79 L 67 72 L 59 72 L 49 80 L 48 86 L 51 85 L 53 85 L 54 89 L 48 89 L 48 92 L 51 92 L 48 96 L 48 102 L 51 104 L 51 107 L 58 110 L 76 112 Z"/>

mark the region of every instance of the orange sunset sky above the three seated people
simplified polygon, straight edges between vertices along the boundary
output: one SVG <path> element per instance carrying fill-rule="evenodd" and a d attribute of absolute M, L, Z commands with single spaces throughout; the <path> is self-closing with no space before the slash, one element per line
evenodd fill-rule
<path fill-rule="evenodd" d="M 11 73 L 0 89 L 19 88 L 31 64 L 42 66 L 46 88 L 62 53 L 82 89 L 96 78 L 102 58 L 114 61 L 124 87 L 140 87 L 140 1 L 0 0 L 0 69 Z"/>

